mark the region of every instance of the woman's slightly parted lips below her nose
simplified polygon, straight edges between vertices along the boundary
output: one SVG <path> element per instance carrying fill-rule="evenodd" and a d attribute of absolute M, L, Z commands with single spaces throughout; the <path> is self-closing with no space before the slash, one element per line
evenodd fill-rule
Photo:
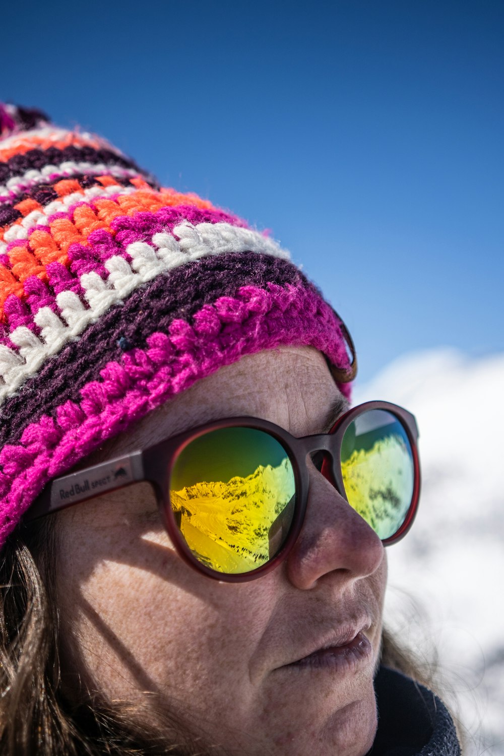
<path fill-rule="evenodd" d="M 292 671 L 327 670 L 343 674 L 356 672 L 373 662 L 373 646 L 363 631 L 348 634 L 347 637 L 316 649 L 311 654 L 285 665 Z"/>

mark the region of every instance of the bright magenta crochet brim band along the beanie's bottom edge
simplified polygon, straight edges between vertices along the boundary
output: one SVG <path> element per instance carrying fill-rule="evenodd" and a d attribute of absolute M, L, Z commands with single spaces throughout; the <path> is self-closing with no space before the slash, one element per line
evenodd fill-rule
<path fill-rule="evenodd" d="M 269 288 L 241 287 L 237 296 L 203 305 L 192 326 L 172 321 L 168 333 L 148 337 L 146 349 L 108 362 L 100 380 L 82 387 L 78 403 L 60 407 L 57 420 L 45 415 L 30 423 L 20 444 L 0 453 L 0 544 L 48 479 L 219 367 L 280 345 L 312 345 L 332 363 L 348 364 L 339 320 L 314 287 Z M 202 314 L 209 307 L 221 323 L 213 337 Z"/>

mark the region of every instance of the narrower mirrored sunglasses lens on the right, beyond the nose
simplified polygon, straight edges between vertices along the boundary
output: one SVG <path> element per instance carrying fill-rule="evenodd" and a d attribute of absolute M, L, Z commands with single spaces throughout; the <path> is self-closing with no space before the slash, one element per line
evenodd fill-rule
<path fill-rule="evenodd" d="M 413 453 L 393 414 L 369 410 L 345 431 L 342 475 L 351 507 L 379 538 L 391 538 L 403 524 L 413 498 Z"/>

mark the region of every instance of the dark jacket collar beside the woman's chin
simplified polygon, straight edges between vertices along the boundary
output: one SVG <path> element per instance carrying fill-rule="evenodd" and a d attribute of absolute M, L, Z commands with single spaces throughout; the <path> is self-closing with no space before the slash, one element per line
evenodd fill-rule
<path fill-rule="evenodd" d="M 433 692 L 386 667 L 375 690 L 378 731 L 369 756 L 459 756 L 453 720 Z"/>

